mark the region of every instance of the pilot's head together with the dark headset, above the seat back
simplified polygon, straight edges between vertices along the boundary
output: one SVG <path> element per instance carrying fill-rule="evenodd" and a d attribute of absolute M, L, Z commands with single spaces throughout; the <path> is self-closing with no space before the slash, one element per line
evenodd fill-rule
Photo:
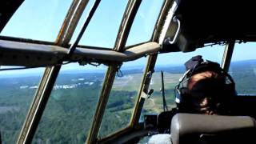
<path fill-rule="evenodd" d="M 231 76 L 217 62 L 205 62 L 200 55 L 185 66 L 187 72 L 176 87 L 179 111 L 229 115 L 230 101 L 236 94 Z"/>

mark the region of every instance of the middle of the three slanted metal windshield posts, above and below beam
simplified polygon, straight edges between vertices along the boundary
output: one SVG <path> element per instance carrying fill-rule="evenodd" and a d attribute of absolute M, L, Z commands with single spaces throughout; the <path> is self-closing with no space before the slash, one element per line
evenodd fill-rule
<path fill-rule="evenodd" d="M 114 50 L 118 52 L 122 52 L 124 50 L 126 46 L 126 40 L 130 32 L 130 28 L 132 26 L 132 23 L 134 21 L 135 15 L 137 14 L 138 7 L 140 6 L 141 2 L 142 0 L 130 0 L 128 2 L 125 14 L 122 18 L 122 22 L 118 30 L 118 37 L 115 42 Z M 96 113 L 94 114 L 94 120 L 90 127 L 90 132 L 87 136 L 86 143 L 90 144 L 96 143 L 98 141 L 98 131 L 101 126 L 104 112 L 106 110 L 106 104 L 110 96 L 110 90 L 114 83 L 115 74 L 117 70 L 120 68 L 120 66 L 122 66 L 122 62 L 117 63 L 117 65 L 114 66 L 109 66 L 106 72 L 104 85 L 106 85 L 108 89 L 102 87 L 101 96 L 98 101 Z"/>

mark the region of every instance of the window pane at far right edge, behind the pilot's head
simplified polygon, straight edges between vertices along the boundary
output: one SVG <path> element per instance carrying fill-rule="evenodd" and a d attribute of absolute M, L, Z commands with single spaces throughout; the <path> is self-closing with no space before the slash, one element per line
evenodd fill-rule
<path fill-rule="evenodd" d="M 234 79 L 238 94 L 256 94 L 255 42 L 234 46 L 229 73 Z"/>

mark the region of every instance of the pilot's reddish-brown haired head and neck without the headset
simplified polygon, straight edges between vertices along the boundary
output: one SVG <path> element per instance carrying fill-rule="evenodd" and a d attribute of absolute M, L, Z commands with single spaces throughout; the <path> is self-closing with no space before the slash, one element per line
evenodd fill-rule
<path fill-rule="evenodd" d="M 223 80 L 214 71 L 206 70 L 194 74 L 188 81 L 187 87 L 190 90 L 191 112 L 198 114 L 223 114 L 220 110 L 221 99 L 218 94 L 222 90 Z"/>

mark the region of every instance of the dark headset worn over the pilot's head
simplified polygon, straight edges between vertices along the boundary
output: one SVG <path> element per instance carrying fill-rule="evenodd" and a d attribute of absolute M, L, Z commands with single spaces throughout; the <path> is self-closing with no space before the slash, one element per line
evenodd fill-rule
<path fill-rule="evenodd" d="M 211 62 L 208 60 L 204 61 L 201 55 L 197 55 L 190 58 L 190 60 L 185 63 L 185 66 L 186 72 L 179 79 L 178 85 L 174 88 L 175 102 L 179 110 L 187 112 L 188 109 L 191 109 L 190 106 L 193 98 L 200 97 L 200 95 L 197 96 L 196 94 L 192 93 L 191 90 L 188 89 L 187 84 L 190 81 L 191 76 L 206 70 L 213 71 L 214 73 L 218 74 L 218 79 L 206 78 L 206 80 L 215 82 L 215 84 L 202 81 L 203 86 L 208 86 L 208 89 L 206 88 L 207 90 L 213 89 L 214 94 L 218 93 L 219 95 L 222 95 L 222 102 L 226 102 L 236 95 L 233 78 L 230 76 L 230 74 L 223 70 L 217 62 Z M 221 88 L 222 90 L 218 88 Z"/>

